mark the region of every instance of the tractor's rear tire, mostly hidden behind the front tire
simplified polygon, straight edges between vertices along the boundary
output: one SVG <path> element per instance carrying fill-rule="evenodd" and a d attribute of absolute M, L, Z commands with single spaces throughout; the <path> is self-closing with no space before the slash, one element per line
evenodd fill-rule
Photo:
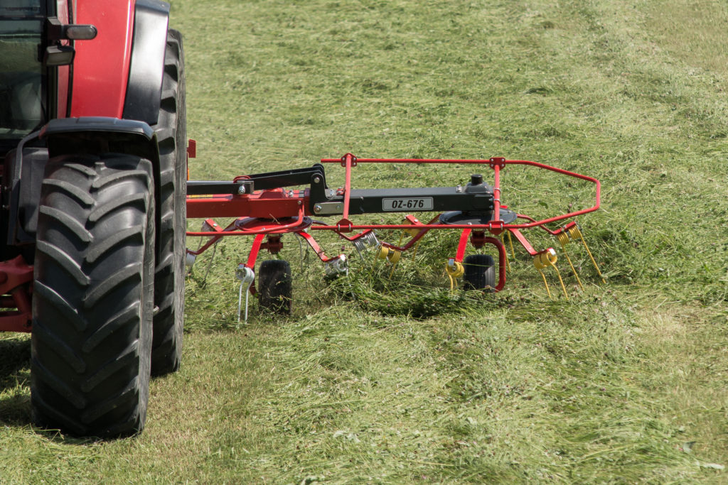
<path fill-rule="evenodd" d="M 151 373 L 180 365 L 184 317 L 187 133 L 184 53 L 178 31 L 167 33 L 162 103 L 154 126 L 159 143 L 159 252 L 154 271 L 154 332 Z"/>

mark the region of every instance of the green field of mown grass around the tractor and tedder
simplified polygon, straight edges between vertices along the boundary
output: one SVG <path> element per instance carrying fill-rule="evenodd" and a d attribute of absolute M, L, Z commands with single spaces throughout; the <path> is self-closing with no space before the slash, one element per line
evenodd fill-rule
<path fill-rule="evenodd" d="M 391 278 L 352 257 L 324 284 L 291 239 L 293 315 L 253 302 L 239 325 L 250 241 L 225 241 L 188 278 L 183 365 L 152 382 L 138 438 L 33 428 L 29 340 L 0 337 L 0 482 L 728 481 L 724 2 L 173 0 L 172 23 L 192 178 L 347 152 L 540 161 L 601 180 L 580 223 L 607 283 L 574 250 L 586 288 L 549 300 L 521 254 L 504 292 L 452 295 L 440 234 Z M 357 167 L 355 184 L 468 170 Z M 509 170 L 519 212 L 589 202 Z"/>

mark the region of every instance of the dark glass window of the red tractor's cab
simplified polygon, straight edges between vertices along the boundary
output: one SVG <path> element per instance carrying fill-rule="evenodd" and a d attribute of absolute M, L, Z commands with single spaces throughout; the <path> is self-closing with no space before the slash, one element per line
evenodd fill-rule
<path fill-rule="evenodd" d="M 0 140 L 18 140 L 41 124 L 41 0 L 0 4 Z"/>

